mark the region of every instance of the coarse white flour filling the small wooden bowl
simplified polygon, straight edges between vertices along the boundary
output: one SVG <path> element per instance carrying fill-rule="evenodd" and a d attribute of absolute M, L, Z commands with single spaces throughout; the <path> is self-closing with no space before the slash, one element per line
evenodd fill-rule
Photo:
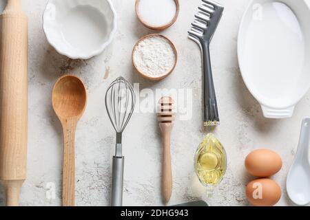
<path fill-rule="evenodd" d="M 172 45 L 161 36 L 144 39 L 134 50 L 134 63 L 146 76 L 163 76 L 172 70 L 175 62 Z"/>

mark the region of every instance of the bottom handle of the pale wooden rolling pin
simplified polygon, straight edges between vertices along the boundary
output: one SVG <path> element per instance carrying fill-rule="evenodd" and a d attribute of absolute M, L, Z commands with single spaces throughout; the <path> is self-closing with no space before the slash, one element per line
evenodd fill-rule
<path fill-rule="evenodd" d="M 23 181 L 23 179 L 3 181 L 4 188 L 6 189 L 6 206 L 19 206 L 19 192 L 21 191 Z"/>

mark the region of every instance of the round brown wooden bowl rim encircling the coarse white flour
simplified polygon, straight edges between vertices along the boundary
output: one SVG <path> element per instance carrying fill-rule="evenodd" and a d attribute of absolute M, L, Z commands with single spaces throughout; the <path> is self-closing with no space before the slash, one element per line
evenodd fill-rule
<path fill-rule="evenodd" d="M 138 46 L 138 44 L 141 43 L 141 41 L 143 41 L 144 39 L 148 39 L 154 36 L 159 36 L 165 39 L 171 45 L 172 50 L 174 51 L 174 57 L 175 57 L 175 62 L 174 62 L 174 66 L 172 67 L 172 69 L 170 69 L 169 72 L 167 72 L 166 74 L 163 74 L 158 77 L 148 76 L 145 73 L 141 72 L 141 70 L 138 69 L 138 67 L 136 66 L 136 63 L 134 62 L 134 52 L 136 51 L 136 47 Z M 143 36 L 140 40 L 137 41 L 137 43 L 134 45 L 134 49 L 132 50 L 132 65 L 134 66 L 134 69 L 136 69 L 136 72 L 138 72 L 138 74 L 140 74 L 143 78 L 146 78 L 148 80 L 157 81 L 157 80 L 162 80 L 163 78 L 166 78 L 167 76 L 169 76 L 169 74 L 171 74 L 174 71 L 174 69 L 176 68 L 177 62 L 178 62 L 178 53 L 176 52 L 176 47 L 174 46 L 174 43 L 172 43 L 172 41 L 170 41 L 169 39 L 167 39 L 167 37 L 161 34 L 148 34 L 148 35 Z"/>

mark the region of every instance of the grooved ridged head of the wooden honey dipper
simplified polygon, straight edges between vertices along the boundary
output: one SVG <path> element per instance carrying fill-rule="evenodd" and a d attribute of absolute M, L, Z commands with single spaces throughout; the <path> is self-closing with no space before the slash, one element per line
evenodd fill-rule
<path fill-rule="evenodd" d="M 160 112 L 158 113 L 158 122 L 159 123 L 172 123 L 174 121 L 174 100 L 165 96 L 159 100 Z"/>

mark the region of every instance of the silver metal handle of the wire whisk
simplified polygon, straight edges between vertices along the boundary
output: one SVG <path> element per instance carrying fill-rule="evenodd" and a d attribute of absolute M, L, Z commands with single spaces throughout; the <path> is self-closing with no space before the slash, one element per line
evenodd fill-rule
<path fill-rule="evenodd" d="M 113 157 L 111 206 L 123 204 L 124 157 Z"/>

